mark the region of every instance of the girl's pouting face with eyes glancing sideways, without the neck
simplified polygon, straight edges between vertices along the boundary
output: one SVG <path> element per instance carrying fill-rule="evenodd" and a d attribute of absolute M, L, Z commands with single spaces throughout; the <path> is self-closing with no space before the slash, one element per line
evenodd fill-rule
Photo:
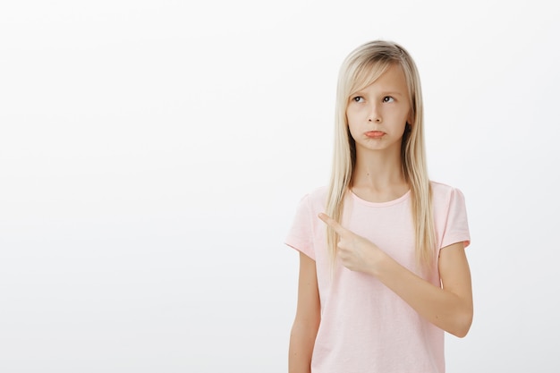
<path fill-rule="evenodd" d="M 404 73 L 395 64 L 349 99 L 346 118 L 356 151 L 400 151 L 406 122 L 412 123 L 411 114 Z"/>

